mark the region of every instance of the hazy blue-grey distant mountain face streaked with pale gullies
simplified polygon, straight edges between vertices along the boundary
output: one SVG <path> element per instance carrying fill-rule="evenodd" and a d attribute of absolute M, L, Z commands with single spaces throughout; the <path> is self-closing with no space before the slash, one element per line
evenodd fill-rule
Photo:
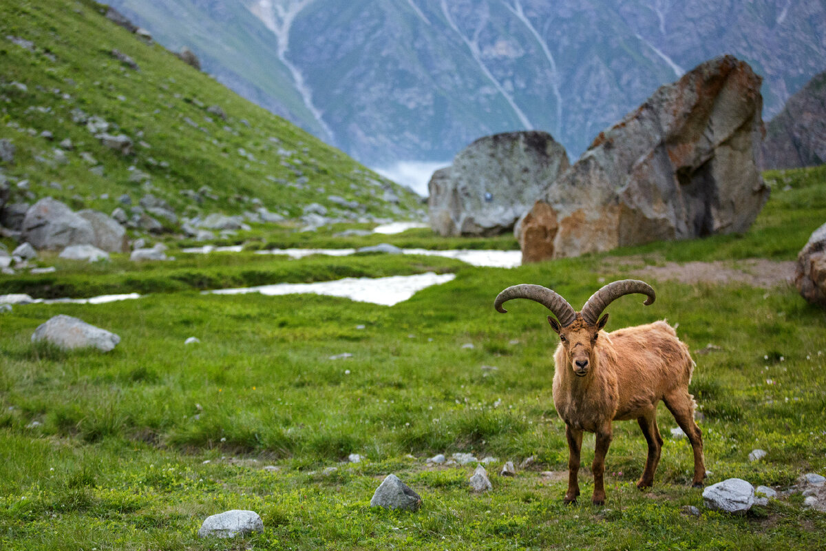
<path fill-rule="evenodd" d="M 762 75 L 769 118 L 826 67 L 819 0 L 112 4 L 373 166 L 444 161 L 482 135 L 526 129 L 550 132 L 576 158 L 657 87 L 723 54 Z M 263 82 L 272 78 L 288 85 Z"/>

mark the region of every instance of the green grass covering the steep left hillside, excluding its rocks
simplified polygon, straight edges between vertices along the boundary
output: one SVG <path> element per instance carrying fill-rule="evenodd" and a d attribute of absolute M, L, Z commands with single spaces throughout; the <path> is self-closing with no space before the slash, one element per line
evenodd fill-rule
<path fill-rule="evenodd" d="M 28 180 L 37 197 L 51 195 L 73 207 L 111 212 L 121 193 L 137 202 L 150 189 L 179 214 L 190 215 L 249 210 L 254 207 L 250 199 L 259 198 L 271 211 L 296 216 L 311 202 L 332 207 L 329 195 L 357 200 L 375 216 L 404 217 L 420 209 L 412 193 L 392 184 L 401 197 L 394 211 L 382 200 L 381 185 L 373 181 L 390 183 L 236 96 L 159 45 L 145 45 L 97 10 L 93 2 L 72 0 L 0 4 L 0 138 L 12 140 L 17 148 L 15 161 L 0 168 L 14 182 Z M 12 44 L 6 36 L 33 41 L 35 51 Z M 130 55 L 140 69 L 114 59 L 113 49 Z M 27 90 L 13 86 L 15 82 Z M 228 121 L 207 113 L 211 105 L 220 106 Z M 75 108 L 105 118 L 114 125 L 110 133 L 129 135 L 135 154 L 123 157 L 102 146 L 85 126 L 72 121 Z M 41 131 L 51 131 L 55 140 L 41 138 Z M 66 152 L 69 162 L 52 166 L 52 151 L 64 138 L 74 143 L 74 150 Z M 150 147 L 137 145 L 140 141 Z M 242 156 L 240 149 L 254 159 Z M 79 155 L 83 151 L 103 165 L 103 176 L 90 173 Z M 152 188 L 129 182 L 131 166 L 150 174 Z M 51 182 L 62 189 L 51 188 Z M 203 185 L 219 198 L 197 205 L 178 193 Z M 100 198 L 104 194 L 107 199 Z M 14 198 L 21 197 L 17 192 Z"/>

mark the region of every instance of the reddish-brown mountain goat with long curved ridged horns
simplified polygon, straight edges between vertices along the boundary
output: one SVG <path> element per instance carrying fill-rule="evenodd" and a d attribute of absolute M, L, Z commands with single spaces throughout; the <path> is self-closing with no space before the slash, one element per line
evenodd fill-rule
<path fill-rule="evenodd" d="M 623 295 L 637 292 L 648 295 L 646 305 L 654 302 L 653 288 L 633 279 L 605 285 L 579 312 L 556 292 L 540 285 L 508 287 L 494 302 L 496 310 L 504 313 L 504 302 L 527 298 L 546 306 L 557 318 L 548 316 L 548 322 L 561 340 L 553 356 L 556 364 L 553 405 L 565 421 L 569 451 L 565 503 L 575 502 L 579 496 L 577 473 L 583 430 L 596 433 L 591 501 L 595 505 L 605 503 L 605 454 L 611 442 L 614 420 L 637 420 L 648 443 L 648 458 L 637 487 L 643 489 L 653 484 L 662 449 L 662 437 L 657 429 L 657 403 L 660 400 L 665 402 L 691 441 L 694 450 L 692 485 L 703 485 L 703 439 L 700 427 L 694 422 L 694 397 L 688 392 L 695 363 L 686 344 L 677 339 L 676 331 L 665 321 L 612 333 L 602 330 L 608 321 L 608 314 L 600 318 L 605 307 Z"/>

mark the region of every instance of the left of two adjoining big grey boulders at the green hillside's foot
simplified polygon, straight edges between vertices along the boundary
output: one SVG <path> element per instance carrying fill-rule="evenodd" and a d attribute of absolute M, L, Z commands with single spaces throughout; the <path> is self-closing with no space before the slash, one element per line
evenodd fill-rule
<path fill-rule="evenodd" d="M 38 250 L 88 245 L 95 240 L 88 220 L 51 197 L 40 199 L 26 211 L 21 230 L 21 240 Z"/>

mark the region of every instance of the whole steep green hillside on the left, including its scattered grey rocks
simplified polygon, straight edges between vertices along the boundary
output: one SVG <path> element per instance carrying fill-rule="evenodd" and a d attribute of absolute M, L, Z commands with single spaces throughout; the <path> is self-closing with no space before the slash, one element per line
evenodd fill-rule
<path fill-rule="evenodd" d="M 44 197 L 191 236 L 284 217 L 424 216 L 414 193 L 106 12 L 90 0 L 0 3 L 3 232 L 25 234 Z"/>

